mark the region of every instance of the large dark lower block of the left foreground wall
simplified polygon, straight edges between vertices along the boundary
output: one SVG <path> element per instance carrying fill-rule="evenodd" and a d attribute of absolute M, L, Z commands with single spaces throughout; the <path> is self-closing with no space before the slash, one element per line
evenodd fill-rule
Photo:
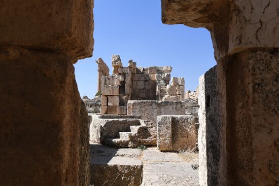
<path fill-rule="evenodd" d="M 14 6 L 9 7 L 11 3 Z M 27 4 L 22 2 L 20 10 L 25 10 Z M 0 14 L 10 15 L 8 10 L 16 10 L 17 5 L 13 1 L 5 2 L 2 5 L 5 11 Z M 34 16 L 33 12 L 24 15 L 25 19 Z M 8 21 L 5 17 L 2 15 L 2 24 Z M 19 16 L 10 26 L 18 21 L 29 25 Z M 33 21 L 39 20 L 33 17 Z M 0 32 L 2 36 L 7 35 L 7 42 L 15 39 L 11 38 L 14 31 L 9 38 L 6 32 L 10 28 L 3 29 Z M 27 33 L 24 29 L 23 33 L 16 31 L 18 36 Z M 52 30 L 43 33 L 51 34 Z M 23 39 L 27 43 L 28 38 Z M 68 56 L 50 50 L 1 48 L 0 67 L 3 70 L 0 73 L 0 185 L 89 185 L 89 118 Z"/>

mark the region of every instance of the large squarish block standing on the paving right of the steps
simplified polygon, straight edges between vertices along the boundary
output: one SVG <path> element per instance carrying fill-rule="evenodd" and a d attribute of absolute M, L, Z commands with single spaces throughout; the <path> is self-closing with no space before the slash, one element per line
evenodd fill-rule
<path fill-rule="evenodd" d="M 197 131 L 194 116 L 158 116 L 157 148 L 160 151 L 177 151 L 195 147 Z"/>

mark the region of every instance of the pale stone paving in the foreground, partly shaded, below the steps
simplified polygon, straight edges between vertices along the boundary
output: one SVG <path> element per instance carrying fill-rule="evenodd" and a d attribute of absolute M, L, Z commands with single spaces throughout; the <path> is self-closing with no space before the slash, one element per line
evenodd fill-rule
<path fill-rule="evenodd" d="M 162 153 L 156 147 L 118 149 L 98 143 L 90 144 L 90 153 L 94 186 L 198 185 L 198 154 Z"/>

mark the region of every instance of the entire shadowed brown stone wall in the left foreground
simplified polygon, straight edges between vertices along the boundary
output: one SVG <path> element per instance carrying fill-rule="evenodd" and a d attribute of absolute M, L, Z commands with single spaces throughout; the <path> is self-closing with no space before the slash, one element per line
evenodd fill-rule
<path fill-rule="evenodd" d="M 89 185 L 73 62 L 92 55 L 93 1 L 0 4 L 0 185 Z"/>

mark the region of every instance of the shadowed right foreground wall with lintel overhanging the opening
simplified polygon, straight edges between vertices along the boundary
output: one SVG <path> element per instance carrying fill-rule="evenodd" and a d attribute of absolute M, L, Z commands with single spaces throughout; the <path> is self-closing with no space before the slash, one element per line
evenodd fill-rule
<path fill-rule="evenodd" d="M 220 105 L 213 105 L 217 108 L 211 117 L 225 129 L 219 148 L 226 148 L 220 164 L 216 157 L 205 154 L 208 150 L 200 151 L 207 162 L 215 162 L 210 168 L 213 171 L 203 169 L 201 175 L 207 177 L 200 185 L 278 183 L 278 6 L 277 1 L 269 0 L 162 0 L 163 23 L 205 27 L 213 39 L 218 89 L 218 97 L 213 98 Z M 215 91 L 213 86 L 205 89 L 205 93 Z M 206 105 L 206 98 L 204 101 Z M 205 125 L 210 128 L 205 127 L 203 135 L 215 130 L 206 117 Z"/>

